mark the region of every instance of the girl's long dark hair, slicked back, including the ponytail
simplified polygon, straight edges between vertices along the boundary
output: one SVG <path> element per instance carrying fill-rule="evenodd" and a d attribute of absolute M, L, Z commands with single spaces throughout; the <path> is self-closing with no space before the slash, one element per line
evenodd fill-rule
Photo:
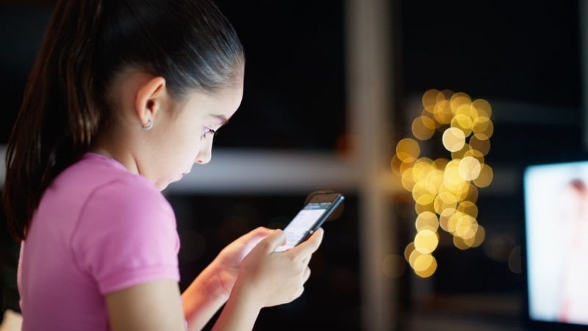
<path fill-rule="evenodd" d="M 2 200 L 23 240 L 42 194 L 108 126 L 105 95 L 128 67 L 161 75 L 173 98 L 235 82 L 245 57 L 209 0 L 59 0 L 8 143 Z"/>

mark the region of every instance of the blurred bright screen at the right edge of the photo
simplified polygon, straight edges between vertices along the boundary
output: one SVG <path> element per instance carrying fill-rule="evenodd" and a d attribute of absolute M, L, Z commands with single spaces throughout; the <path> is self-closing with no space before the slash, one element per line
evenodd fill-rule
<path fill-rule="evenodd" d="M 588 162 L 524 173 L 529 316 L 588 325 Z"/>

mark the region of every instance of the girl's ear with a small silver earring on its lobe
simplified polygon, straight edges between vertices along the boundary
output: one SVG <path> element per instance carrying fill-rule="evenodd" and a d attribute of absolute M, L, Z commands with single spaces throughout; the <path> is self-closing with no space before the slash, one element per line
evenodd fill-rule
<path fill-rule="evenodd" d="M 159 110 L 167 100 L 165 78 L 158 76 L 143 84 L 137 92 L 135 111 L 141 124 L 159 116 Z"/>

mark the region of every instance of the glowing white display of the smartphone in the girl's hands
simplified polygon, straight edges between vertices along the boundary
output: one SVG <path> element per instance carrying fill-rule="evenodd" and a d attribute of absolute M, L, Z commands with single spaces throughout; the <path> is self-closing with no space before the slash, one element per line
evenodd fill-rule
<path fill-rule="evenodd" d="M 330 204 L 330 202 L 306 204 L 284 229 L 286 244 L 276 247 L 275 251 L 283 251 L 296 246 L 296 243 L 306 236 L 306 232 L 325 213 Z"/>

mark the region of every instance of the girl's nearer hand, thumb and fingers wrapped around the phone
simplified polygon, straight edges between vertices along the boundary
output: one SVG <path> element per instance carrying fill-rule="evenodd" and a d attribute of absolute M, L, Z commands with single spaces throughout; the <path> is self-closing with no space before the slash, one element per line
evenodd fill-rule
<path fill-rule="evenodd" d="M 320 246 L 323 229 L 286 251 L 274 251 L 286 243 L 282 230 L 275 230 L 243 259 L 239 279 L 240 290 L 250 293 L 260 307 L 271 307 L 292 302 L 304 292 L 310 277 L 308 263 Z"/>

